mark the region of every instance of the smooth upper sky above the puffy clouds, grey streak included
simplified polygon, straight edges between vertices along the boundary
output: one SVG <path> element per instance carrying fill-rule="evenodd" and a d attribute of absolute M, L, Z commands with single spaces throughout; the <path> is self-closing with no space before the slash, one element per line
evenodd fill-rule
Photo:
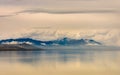
<path fill-rule="evenodd" d="M 0 0 L 0 31 L 119 29 L 119 0 Z"/>

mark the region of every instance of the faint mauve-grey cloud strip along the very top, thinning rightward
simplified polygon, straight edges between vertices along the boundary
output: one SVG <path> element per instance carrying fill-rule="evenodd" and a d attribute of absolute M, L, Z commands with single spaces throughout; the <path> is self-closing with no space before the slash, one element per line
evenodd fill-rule
<path fill-rule="evenodd" d="M 49 4 L 50 5 L 55 5 L 55 3 L 57 4 L 61 4 L 64 2 L 90 2 L 90 1 L 96 1 L 96 0 L 0 0 L 0 5 L 11 5 L 11 6 L 29 6 L 29 5 L 46 5 Z M 49 5 L 48 4 L 48 5 Z M 69 5 L 69 4 L 67 4 Z"/>

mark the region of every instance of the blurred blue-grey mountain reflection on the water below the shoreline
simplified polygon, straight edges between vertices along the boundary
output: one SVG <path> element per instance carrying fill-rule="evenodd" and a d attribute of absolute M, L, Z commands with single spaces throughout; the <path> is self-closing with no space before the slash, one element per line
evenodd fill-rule
<path fill-rule="evenodd" d="M 0 61 L 19 63 L 41 62 L 80 62 L 94 63 L 105 59 L 114 62 L 120 56 L 120 51 L 94 51 L 94 50 L 44 50 L 44 51 L 1 51 Z"/>

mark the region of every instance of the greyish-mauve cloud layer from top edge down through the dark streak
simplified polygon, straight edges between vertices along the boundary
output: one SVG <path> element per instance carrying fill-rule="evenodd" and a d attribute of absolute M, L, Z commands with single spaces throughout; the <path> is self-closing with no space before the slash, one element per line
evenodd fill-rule
<path fill-rule="evenodd" d="M 0 0 L 0 7 L 21 7 L 19 10 L 0 17 L 11 17 L 21 13 L 48 14 L 83 14 L 83 13 L 117 13 L 119 0 Z M 8 10 L 11 11 L 11 10 Z"/>

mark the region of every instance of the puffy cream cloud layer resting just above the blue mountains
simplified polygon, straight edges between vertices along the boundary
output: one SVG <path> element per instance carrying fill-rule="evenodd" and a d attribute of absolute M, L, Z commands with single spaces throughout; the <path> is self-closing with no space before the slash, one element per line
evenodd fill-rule
<path fill-rule="evenodd" d="M 103 43 L 104 45 L 116 45 L 120 46 L 120 32 L 117 30 L 93 30 L 93 31 L 81 31 L 81 32 L 63 32 L 63 31 L 51 31 L 51 30 L 29 30 L 20 33 L 14 33 L 10 35 L 4 35 L 6 37 L 2 37 L 1 39 L 9 39 L 9 38 L 33 38 L 36 40 L 56 40 L 64 37 L 68 37 L 71 39 L 94 39 Z M 114 42 L 114 43 L 113 43 Z"/>

